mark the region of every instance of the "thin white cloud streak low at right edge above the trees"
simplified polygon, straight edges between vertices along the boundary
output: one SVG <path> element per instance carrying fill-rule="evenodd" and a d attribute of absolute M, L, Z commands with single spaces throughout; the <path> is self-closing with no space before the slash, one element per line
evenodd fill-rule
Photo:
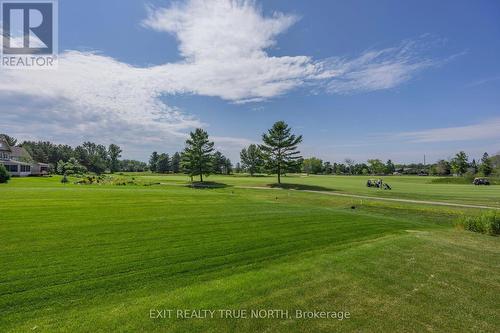
<path fill-rule="evenodd" d="M 499 139 L 500 118 L 473 125 L 404 132 L 396 137 L 416 143 Z"/>

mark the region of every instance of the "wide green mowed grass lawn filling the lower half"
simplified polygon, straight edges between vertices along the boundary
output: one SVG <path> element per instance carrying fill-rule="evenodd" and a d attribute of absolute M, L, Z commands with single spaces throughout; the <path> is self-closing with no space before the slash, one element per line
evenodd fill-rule
<path fill-rule="evenodd" d="M 209 180 L 265 185 L 271 178 Z M 357 180 L 293 183 L 349 192 Z M 426 181 L 391 178 L 396 188 L 415 184 L 404 190 L 409 197 L 443 191 L 445 185 Z M 363 186 L 352 192 L 367 193 Z M 495 203 L 494 194 L 470 191 L 448 196 Z M 62 185 L 58 177 L 13 179 L 0 194 L 0 332 L 500 328 L 500 240 L 451 226 L 457 215 L 477 210 L 231 186 Z M 151 319 L 150 309 L 303 309 L 351 317 Z"/>

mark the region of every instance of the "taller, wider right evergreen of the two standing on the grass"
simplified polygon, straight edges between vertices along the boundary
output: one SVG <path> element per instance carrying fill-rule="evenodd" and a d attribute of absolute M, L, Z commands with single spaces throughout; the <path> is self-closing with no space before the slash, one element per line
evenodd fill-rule
<path fill-rule="evenodd" d="M 291 128 L 284 122 L 276 122 L 271 129 L 262 135 L 264 142 L 259 146 L 263 153 L 266 169 L 278 175 L 278 184 L 281 184 L 281 175 L 300 166 L 301 156 L 297 146 L 302 142 L 302 135 L 291 133 Z"/>

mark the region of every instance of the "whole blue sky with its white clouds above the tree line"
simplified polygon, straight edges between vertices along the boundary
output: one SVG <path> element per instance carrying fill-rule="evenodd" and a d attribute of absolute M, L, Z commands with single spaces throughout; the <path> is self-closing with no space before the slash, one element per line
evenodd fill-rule
<path fill-rule="evenodd" d="M 0 132 L 238 160 L 277 120 L 304 156 L 500 151 L 498 1 L 59 2 L 59 68 L 0 69 Z"/>

